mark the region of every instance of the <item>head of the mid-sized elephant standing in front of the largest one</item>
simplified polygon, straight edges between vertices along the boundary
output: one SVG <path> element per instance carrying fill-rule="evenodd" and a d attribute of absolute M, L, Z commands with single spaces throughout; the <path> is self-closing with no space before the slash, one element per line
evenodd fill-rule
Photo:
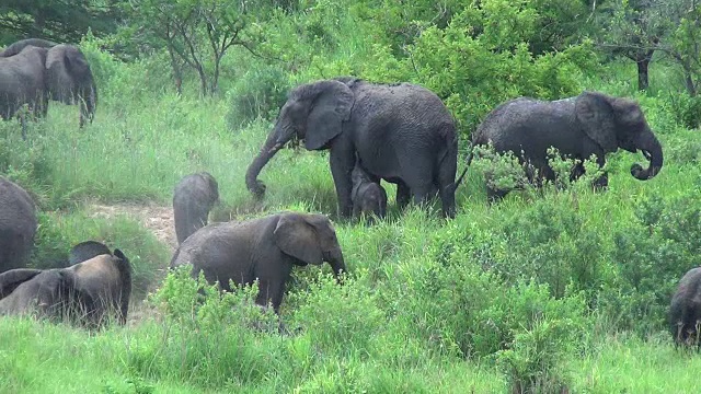
<path fill-rule="evenodd" d="M 341 273 L 346 270 L 336 232 L 323 215 L 283 215 L 273 236 L 277 247 L 295 257 L 297 265 L 327 262 L 338 280 Z"/>

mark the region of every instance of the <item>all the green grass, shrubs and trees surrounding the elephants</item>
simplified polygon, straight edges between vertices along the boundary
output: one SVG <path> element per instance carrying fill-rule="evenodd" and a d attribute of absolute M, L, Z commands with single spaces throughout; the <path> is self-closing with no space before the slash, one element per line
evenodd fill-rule
<path fill-rule="evenodd" d="M 0 124 L 0 173 L 41 207 L 31 264 L 105 241 L 131 259 L 136 291 L 129 324 L 100 333 L 0 320 L 0 392 L 701 391 L 701 358 L 675 349 L 667 323 L 678 279 L 701 260 L 700 24 L 696 0 L 3 2 L 0 44 L 79 44 L 100 90 L 84 129 L 58 103 L 26 142 Z M 223 200 L 214 220 L 335 218 L 325 152 L 278 153 L 262 202 L 243 178 L 286 92 L 337 76 L 435 91 L 459 124 L 461 169 L 503 101 L 634 97 L 665 166 L 639 182 L 628 169 L 642 155 L 616 153 L 605 193 L 583 179 L 489 206 L 486 166 L 520 179 L 508 160 L 478 162 L 455 220 L 415 208 L 372 227 L 336 220 L 346 285 L 297 269 L 281 312 L 292 334 L 252 329 L 274 326 L 246 303 L 254 289 L 197 302 L 186 275 L 165 278 L 173 245 L 143 223 L 203 170 Z"/>

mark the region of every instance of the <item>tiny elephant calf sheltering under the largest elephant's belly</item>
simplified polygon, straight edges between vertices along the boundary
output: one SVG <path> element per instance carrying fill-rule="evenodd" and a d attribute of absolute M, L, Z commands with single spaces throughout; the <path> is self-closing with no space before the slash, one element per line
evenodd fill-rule
<path fill-rule="evenodd" d="M 387 193 L 380 186 L 379 179 L 372 179 L 370 174 L 363 170 L 359 162 L 356 162 L 350 178 L 353 179 L 353 190 L 350 192 L 353 217 L 365 216 L 370 221 L 372 220 L 372 215 L 380 219 L 384 218 L 387 213 Z"/>

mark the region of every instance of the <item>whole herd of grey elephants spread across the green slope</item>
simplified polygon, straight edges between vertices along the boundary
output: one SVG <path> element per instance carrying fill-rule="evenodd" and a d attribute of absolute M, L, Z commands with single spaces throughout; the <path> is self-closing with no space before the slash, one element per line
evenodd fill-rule
<path fill-rule="evenodd" d="M 31 38 L 0 53 L 3 118 L 12 117 L 24 104 L 44 115 L 48 100 L 78 103 L 81 126 L 85 118 L 92 120 L 96 88 L 78 48 Z M 594 155 L 604 166 L 606 153 L 619 148 L 641 151 L 650 162 L 647 167 L 633 164 L 630 172 L 637 179 L 657 175 L 664 161 L 662 144 L 640 105 L 598 92 L 558 101 L 510 100 L 487 114 L 472 135 L 471 147 L 491 146 L 497 153 L 514 153 L 536 185 L 555 179 L 548 162 L 551 147 L 562 157 L 576 160 L 572 179 L 584 175 L 584 160 Z M 263 198 L 266 190 L 258 179 L 261 171 L 292 140 L 303 140 L 308 150 L 329 150 L 338 215 L 344 219 L 384 217 L 388 198 L 381 181 L 397 185 L 399 208 L 438 197 L 443 216 L 456 215 L 456 189 L 467 172 L 466 167 L 456 181 L 456 121 L 443 101 L 423 86 L 340 77 L 291 90 L 245 173 L 245 185 L 256 198 Z M 468 166 L 471 160 L 472 153 L 468 155 Z M 599 188 L 607 185 L 606 173 L 594 182 Z M 508 189 L 487 187 L 491 201 L 507 193 Z M 295 265 L 327 262 L 341 281 L 346 267 L 327 217 L 283 212 L 207 224 L 209 211 L 218 200 L 218 184 L 206 172 L 188 175 L 175 186 L 173 210 L 179 248 L 171 267 L 191 265 L 194 276 L 202 271 L 223 290 L 231 290 L 230 281 L 242 285 L 258 280 L 256 302 L 272 303 L 276 312 Z M 7 179 L 0 183 L 0 313 L 22 312 L 31 304 L 64 313 L 61 305 L 79 304 L 85 315 L 102 317 L 99 311 L 111 306 L 120 311 L 119 321 L 126 318 L 130 268 L 119 250 L 111 252 L 104 245 L 88 242 L 73 247 L 68 268 L 23 268 L 36 231 L 33 202 L 21 187 Z M 673 298 L 670 321 L 678 340 L 696 332 L 701 321 L 699 269 L 682 278 Z M 102 286 L 89 286 L 93 280 Z M 96 298 L 110 302 L 100 303 Z"/>

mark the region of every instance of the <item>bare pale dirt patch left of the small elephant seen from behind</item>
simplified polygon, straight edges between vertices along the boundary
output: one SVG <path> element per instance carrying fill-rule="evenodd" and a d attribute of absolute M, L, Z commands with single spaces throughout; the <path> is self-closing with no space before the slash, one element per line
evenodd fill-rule
<path fill-rule="evenodd" d="M 175 236 L 175 224 L 173 221 L 173 208 L 163 207 L 152 202 L 148 204 L 116 204 L 101 205 L 90 204 L 89 210 L 92 217 L 113 218 L 118 215 L 126 215 L 138 220 L 141 225 L 151 231 L 156 237 L 170 246 L 171 252 L 177 248 L 177 237 Z"/>

